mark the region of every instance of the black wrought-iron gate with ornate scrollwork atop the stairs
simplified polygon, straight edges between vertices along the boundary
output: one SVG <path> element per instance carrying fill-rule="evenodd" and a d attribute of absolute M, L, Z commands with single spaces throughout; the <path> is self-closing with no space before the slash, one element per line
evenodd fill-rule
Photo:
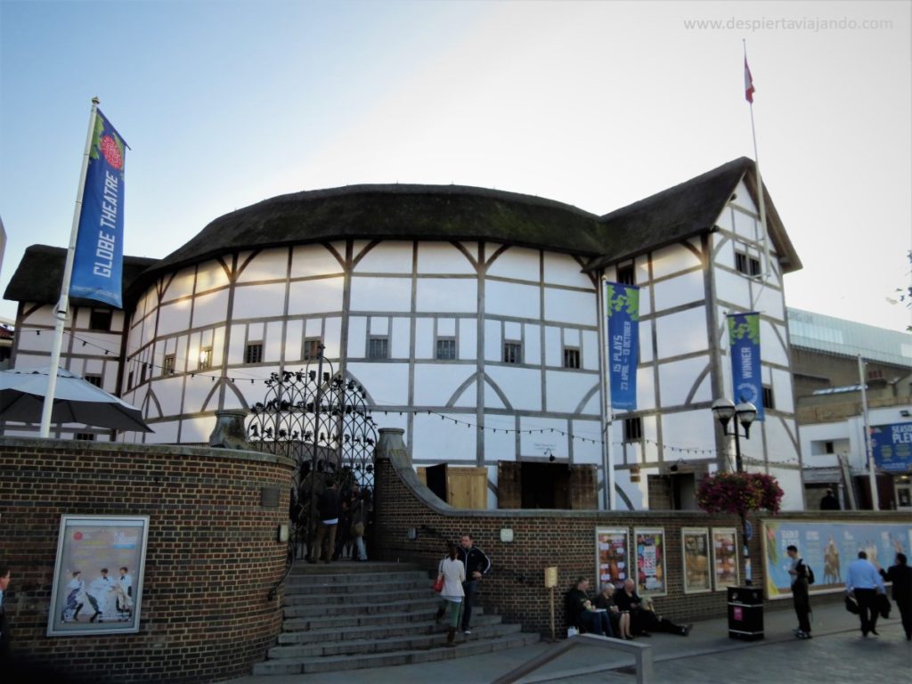
<path fill-rule="evenodd" d="M 377 425 L 365 401 L 367 392 L 337 375 L 319 347 L 316 358 L 298 371 L 273 373 L 266 394 L 254 404 L 246 437 L 257 451 L 280 454 L 297 463 L 289 510 L 290 560 L 309 553 L 316 530 L 316 500 L 328 477 L 346 492 L 354 482 L 373 490 Z"/>

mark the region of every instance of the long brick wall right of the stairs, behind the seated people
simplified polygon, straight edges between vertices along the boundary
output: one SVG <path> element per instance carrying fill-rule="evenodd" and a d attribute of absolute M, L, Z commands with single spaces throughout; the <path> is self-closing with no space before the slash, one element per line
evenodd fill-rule
<path fill-rule="evenodd" d="M 375 471 L 374 503 L 376 552 L 372 557 L 388 561 L 413 561 L 432 572 L 443 557 L 444 540 L 456 540 L 470 532 L 475 545 L 492 559 L 492 572 L 482 580 L 480 600 L 486 610 L 518 622 L 527 631 L 550 636 L 551 618 L 544 568 L 556 565 L 559 585 L 554 590 L 557 634 L 565 633 L 564 594 L 577 576 L 594 580 L 596 527 L 660 527 L 665 530 L 668 596 L 656 597 L 660 615 L 676 621 L 726 615 L 725 591 L 684 594 L 681 553 L 682 527 L 735 527 L 737 516 L 710 515 L 696 511 L 529 511 L 457 510 L 443 503 L 415 475 L 404 449 L 397 449 L 401 430 L 380 430 Z M 393 435 L 390 437 L 390 435 Z M 403 445 L 404 447 L 404 445 Z M 819 513 L 789 513 L 789 519 L 818 519 Z M 902 513 L 837 513 L 845 522 L 901 522 Z M 751 517 L 753 529 L 761 530 L 762 517 Z M 409 540 L 409 528 L 418 538 Z M 501 542 L 502 528 L 513 530 L 513 542 Z M 751 541 L 754 586 L 763 586 L 762 546 L 759 534 Z M 744 569 L 739 559 L 740 576 Z M 430 583 L 429 583 L 430 584 Z M 590 591 L 594 590 L 592 582 Z M 814 596 L 814 601 L 842 600 L 842 596 Z M 767 602 L 770 609 L 792 609 L 788 600 Z"/>

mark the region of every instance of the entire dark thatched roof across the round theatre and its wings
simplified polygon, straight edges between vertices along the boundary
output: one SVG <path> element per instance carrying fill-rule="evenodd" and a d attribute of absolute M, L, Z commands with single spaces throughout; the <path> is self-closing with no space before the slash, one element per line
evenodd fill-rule
<path fill-rule="evenodd" d="M 715 225 L 738 182 L 756 187 L 753 161 L 741 157 L 645 200 L 598 217 L 541 197 L 460 185 L 351 185 L 280 195 L 227 213 L 164 259 L 124 257 L 125 302 L 164 273 L 239 250 L 347 238 L 514 244 L 575 254 L 586 270 L 617 264 Z M 754 191 L 751 198 L 756 203 Z M 786 273 L 801 261 L 769 193 L 767 223 Z M 65 251 L 34 245 L 5 298 L 56 302 Z M 41 274 L 36 278 L 35 274 Z"/>

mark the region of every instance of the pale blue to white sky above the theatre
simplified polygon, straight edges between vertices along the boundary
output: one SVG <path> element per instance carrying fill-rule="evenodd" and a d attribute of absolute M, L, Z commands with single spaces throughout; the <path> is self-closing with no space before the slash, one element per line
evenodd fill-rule
<path fill-rule="evenodd" d="M 67 244 L 93 96 L 130 145 L 125 253 L 163 257 L 223 213 L 365 182 L 613 211 L 754 156 L 746 40 L 803 262 L 786 304 L 905 330 L 910 7 L 0 0 L 0 292 L 26 246 Z"/>

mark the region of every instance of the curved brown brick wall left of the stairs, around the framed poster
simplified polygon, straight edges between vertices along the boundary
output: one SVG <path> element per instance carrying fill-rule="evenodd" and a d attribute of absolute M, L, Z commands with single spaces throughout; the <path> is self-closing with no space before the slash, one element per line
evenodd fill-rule
<path fill-rule="evenodd" d="M 250 451 L 0 438 L 15 653 L 92 682 L 249 673 L 281 627 L 282 596 L 267 594 L 285 571 L 276 533 L 292 469 Z M 278 492 L 277 506 L 261 504 L 264 488 Z M 150 516 L 139 633 L 46 636 L 63 513 Z"/>

